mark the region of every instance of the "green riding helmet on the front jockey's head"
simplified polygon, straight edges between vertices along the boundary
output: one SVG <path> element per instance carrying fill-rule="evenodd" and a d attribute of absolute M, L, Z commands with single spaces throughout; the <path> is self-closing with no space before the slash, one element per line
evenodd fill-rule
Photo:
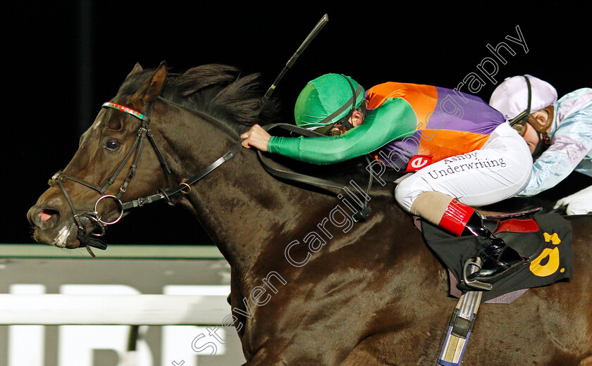
<path fill-rule="evenodd" d="M 296 99 L 296 125 L 309 130 L 331 125 L 363 101 L 364 88 L 351 77 L 340 74 L 317 77 L 308 82 Z"/>

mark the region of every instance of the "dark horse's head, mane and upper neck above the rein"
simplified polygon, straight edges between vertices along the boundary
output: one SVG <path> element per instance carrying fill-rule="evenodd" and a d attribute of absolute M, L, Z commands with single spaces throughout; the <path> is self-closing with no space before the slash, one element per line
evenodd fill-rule
<path fill-rule="evenodd" d="M 180 194 L 191 189 L 187 176 L 220 158 L 245 126 L 275 118 L 276 103 L 259 103 L 258 76 L 240 76 L 226 65 L 183 74 L 168 73 L 164 62 L 154 70 L 135 65 L 82 134 L 70 163 L 28 211 L 35 240 L 104 248 L 95 236 L 144 198 L 199 204 L 195 192 L 197 203 Z M 175 185 L 177 194 L 166 195 Z"/>

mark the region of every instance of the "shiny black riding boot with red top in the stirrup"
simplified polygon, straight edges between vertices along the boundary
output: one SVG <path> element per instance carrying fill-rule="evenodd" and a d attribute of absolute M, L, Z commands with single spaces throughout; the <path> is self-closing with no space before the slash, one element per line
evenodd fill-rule
<path fill-rule="evenodd" d="M 447 229 L 457 236 L 480 236 L 485 238 L 489 245 L 481 251 L 481 269 L 470 274 L 467 279 L 480 282 L 495 282 L 501 277 L 517 270 L 524 258 L 512 247 L 507 246 L 503 239 L 497 238 L 483 225 L 483 219 L 473 208 L 453 199 L 442 220 L 440 227 Z"/>

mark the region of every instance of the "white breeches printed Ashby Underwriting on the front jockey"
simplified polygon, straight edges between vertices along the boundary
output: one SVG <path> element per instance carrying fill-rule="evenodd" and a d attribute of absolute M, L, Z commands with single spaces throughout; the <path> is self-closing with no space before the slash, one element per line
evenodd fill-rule
<path fill-rule="evenodd" d="M 481 149 L 445 158 L 404 179 L 395 189 L 395 199 L 408 212 L 426 191 L 448 194 L 469 206 L 490 205 L 522 191 L 531 170 L 526 142 L 503 123 Z"/>

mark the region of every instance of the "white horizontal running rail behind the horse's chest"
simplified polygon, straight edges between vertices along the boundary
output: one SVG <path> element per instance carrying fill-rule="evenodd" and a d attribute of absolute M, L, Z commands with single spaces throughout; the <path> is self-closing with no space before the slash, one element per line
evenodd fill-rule
<path fill-rule="evenodd" d="M 216 325 L 227 315 L 221 295 L 0 294 L 0 325 Z"/>

